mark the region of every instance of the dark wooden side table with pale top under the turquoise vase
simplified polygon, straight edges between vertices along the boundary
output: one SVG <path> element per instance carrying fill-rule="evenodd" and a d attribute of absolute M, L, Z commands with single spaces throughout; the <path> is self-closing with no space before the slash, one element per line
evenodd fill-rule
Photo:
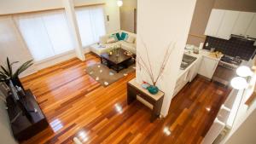
<path fill-rule="evenodd" d="M 140 84 L 137 84 L 136 78 L 134 78 L 127 83 L 128 105 L 130 105 L 132 101 L 135 101 L 137 99 L 137 95 L 153 105 L 150 122 L 154 122 L 154 120 L 160 116 L 160 111 L 165 94 L 162 91 L 159 91 L 156 95 L 150 94 L 147 89 L 143 89 Z"/>

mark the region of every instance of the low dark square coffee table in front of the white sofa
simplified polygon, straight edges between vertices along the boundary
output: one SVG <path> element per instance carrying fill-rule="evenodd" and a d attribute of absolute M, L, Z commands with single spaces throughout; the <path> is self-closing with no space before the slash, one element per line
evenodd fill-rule
<path fill-rule="evenodd" d="M 131 64 L 131 58 L 134 55 L 125 55 L 125 49 L 116 49 L 112 55 L 109 53 L 102 53 L 101 62 L 112 68 L 114 71 L 119 72 L 120 70 L 127 68 Z M 132 61 L 134 63 L 134 61 Z"/>

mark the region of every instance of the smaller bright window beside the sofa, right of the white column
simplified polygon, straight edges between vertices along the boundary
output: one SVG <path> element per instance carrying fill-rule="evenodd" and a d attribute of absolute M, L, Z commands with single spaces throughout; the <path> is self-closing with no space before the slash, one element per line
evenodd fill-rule
<path fill-rule="evenodd" d="M 75 10 L 83 47 L 99 42 L 99 37 L 106 34 L 103 7 Z"/>

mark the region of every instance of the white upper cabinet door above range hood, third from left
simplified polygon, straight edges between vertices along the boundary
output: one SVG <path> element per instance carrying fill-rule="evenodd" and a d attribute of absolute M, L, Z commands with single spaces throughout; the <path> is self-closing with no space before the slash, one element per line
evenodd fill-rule
<path fill-rule="evenodd" d="M 247 32 L 248 26 L 253 20 L 254 13 L 250 12 L 240 12 L 238 15 L 238 19 L 236 20 L 236 24 L 233 27 L 232 34 L 236 34 L 239 36 L 245 36 Z"/>

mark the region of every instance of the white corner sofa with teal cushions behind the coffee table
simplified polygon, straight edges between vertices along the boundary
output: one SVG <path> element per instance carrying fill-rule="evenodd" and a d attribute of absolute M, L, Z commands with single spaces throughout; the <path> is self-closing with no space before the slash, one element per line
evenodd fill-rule
<path fill-rule="evenodd" d="M 121 35 L 122 32 L 125 31 L 118 31 L 119 35 Z M 131 32 L 125 32 L 128 34 L 128 37 L 134 37 L 133 43 L 128 43 L 126 40 L 120 40 L 114 43 L 107 43 L 107 40 L 109 37 L 111 37 L 114 33 L 117 32 L 112 32 L 107 35 L 104 35 L 100 37 L 100 43 L 96 43 L 93 45 L 90 45 L 90 51 L 95 53 L 96 55 L 102 55 L 104 52 L 108 52 L 110 49 L 113 49 L 114 46 L 119 45 L 122 49 L 125 49 L 127 51 L 131 51 L 131 53 L 136 54 L 136 43 L 137 43 L 137 35 L 135 33 Z"/>

